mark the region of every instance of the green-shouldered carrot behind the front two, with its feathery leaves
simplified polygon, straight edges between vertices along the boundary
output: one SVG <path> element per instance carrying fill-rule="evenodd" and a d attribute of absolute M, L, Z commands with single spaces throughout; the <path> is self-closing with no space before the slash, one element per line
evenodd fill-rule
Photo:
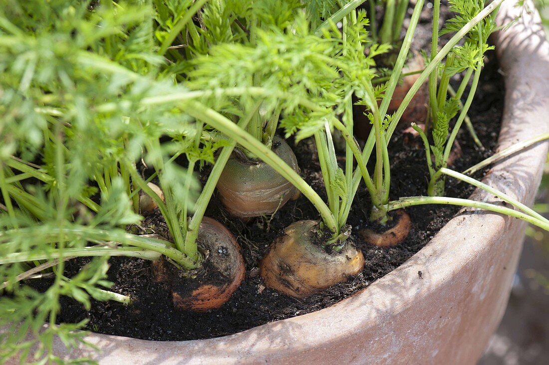
<path fill-rule="evenodd" d="M 185 58 L 191 61 L 174 60 L 173 65 L 177 77 L 186 80 L 191 89 L 239 90 L 238 97 L 216 100 L 214 109 L 232 121 L 249 115 L 249 123 L 243 129 L 295 171 L 298 166 L 292 150 L 275 136 L 281 113 L 292 113 L 295 108 L 293 102 L 284 98 L 306 97 L 308 88 L 322 87 L 327 77 L 334 77 L 327 76 L 332 70 L 323 64 L 321 55 L 329 44 L 313 44 L 313 38 L 304 33 L 294 36 L 286 31 L 302 16 L 301 7 L 300 1 L 206 3 L 196 24 L 188 22 L 181 33 L 186 35 L 181 40 L 186 43 Z M 310 52 L 299 52 L 302 49 Z M 285 96 L 265 93 L 273 87 Z M 254 88 L 259 92 L 254 93 Z M 211 96 L 203 103 L 212 105 Z M 226 168 L 217 184 L 221 201 L 232 215 L 250 218 L 273 214 L 296 195 L 292 184 L 253 151 L 238 145 L 234 152 L 227 152 Z"/>

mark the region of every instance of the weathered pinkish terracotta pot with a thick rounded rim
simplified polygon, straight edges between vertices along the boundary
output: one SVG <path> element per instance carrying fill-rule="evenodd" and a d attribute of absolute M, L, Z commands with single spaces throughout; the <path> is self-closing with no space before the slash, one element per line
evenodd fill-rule
<path fill-rule="evenodd" d="M 518 14 L 514 2 L 503 3 L 499 24 Z M 501 149 L 549 130 L 549 44 L 535 12 L 494 41 L 506 81 Z M 484 182 L 532 204 L 546 156 L 547 144 L 538 144 L 497 164 Z M 505 311 L 524 229 L 516 218 L 463 211 L 404 265 L 323 310 L 209 340 L 90 334 L 102 353 L 56 347 L 100 364 L 472 364 Z"/>

